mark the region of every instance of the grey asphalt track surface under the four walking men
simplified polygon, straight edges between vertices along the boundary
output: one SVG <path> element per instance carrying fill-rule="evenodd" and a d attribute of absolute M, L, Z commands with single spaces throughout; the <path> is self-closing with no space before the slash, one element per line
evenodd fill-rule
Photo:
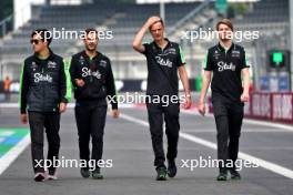
<path fill-rule="evenodd" d="M 112 160 L 112 167 L 103 168 L 103 181 L 82 178 L 77 167 L 58 170 L 58 181 L 36 183 L 31 167 L 30 145 L 0 175 L 1 195 L 291 195 L 293 181 L 282 173 L 265 167 L 243 167 L 241 181 L 216 182 L 215 167 L 183 166 L 182 161 L 216 157 L 216 151 L 180 137 L 175 178 L 156 182 L 153 153 L 148 126 L 127 120 L 146 122 L 145 109 L 122 109 L 122 116 L 108 115 L 104 134 L 104 160 Z M 194 111 L 195 112 L 195 111 Z M 181 132 L 215 143 L 213 117 L 181 113 Z M 19 122 L 17 109 L 1 109 L 0 127 L 28 127 Z M 79 160 L 78 133 L 73 110 L 61 119 L 60 156 Z M 46 144 L 47 145 L 47 144 Z M 44 147 L 47 152 L 47 147 Z M 261 160 L 293 170 L 293 131 L 272 125 L 244 123 L 240 151 Z"/>

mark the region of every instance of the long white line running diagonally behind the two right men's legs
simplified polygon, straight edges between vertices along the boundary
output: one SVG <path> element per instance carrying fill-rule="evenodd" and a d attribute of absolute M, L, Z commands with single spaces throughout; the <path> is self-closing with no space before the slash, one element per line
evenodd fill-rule
<path fill-rule="evenodd" d="M 142 126 L 149 127 L 149 123 L 143 121 L 143 120 L 140 120 L 140 119 L 137 119 L 137 117 L 132 117 L 132 116 L 127 115 L 127 114 L 121 114 L 120 116 L 122 119 L 127 120 L 127 121 L 130 121 L 130 122 L 140 124 Z M 216 144 L 213 143 L 213 142 L 196 137 L 196 136 L 188 134 L 188 133 L 182 133 L 182 132 L 180 133 L 180 136 L 182 138 L 185 138 L 188 141 L 194 142 L 196 144 L 201 144 L 201 145 L 210 147 L 212 150 L 216 150 Z M 250 161 L 250 162 L 257 162 L 259 166 L 261 166 L 261 167 L 263 167 L 265 170 L 269 170 L 269 171 L 271 171 L 273 173 L 276 173 L 279 175 L 282 175 L 282 176 L 285 176 L 287 178 L 293 179 L 293 171 L 292 170 L 285 168 L 283 166 L 277 165 L 277 164 L 271 163 L 269 161 L 264 161 L 262 158 L 252 156 L 252 155 L 243 153 L 243 152 L 239 153 L 239 157 L 242 158 L 242 160 Z"/>

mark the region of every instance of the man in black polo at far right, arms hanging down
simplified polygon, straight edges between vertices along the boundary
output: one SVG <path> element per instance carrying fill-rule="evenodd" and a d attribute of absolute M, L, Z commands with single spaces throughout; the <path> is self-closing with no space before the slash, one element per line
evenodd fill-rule
<path fill-rule="evenodd" d="M 250 66 L 245 60 L 244 49 L 232 42 L 232 22 L 228 19 L 219 21 L 216 31 L 220 42 L 208 51 L 199 112 L 202 115 L 205 113 L 204 99 L 213 73 L 211 88 L 220 166 L 216 179 L 226 181 L 228 170 L 232 179 L 240 179 L 235 161 L 239 153 L 243 106 L 250 98 Z"/>

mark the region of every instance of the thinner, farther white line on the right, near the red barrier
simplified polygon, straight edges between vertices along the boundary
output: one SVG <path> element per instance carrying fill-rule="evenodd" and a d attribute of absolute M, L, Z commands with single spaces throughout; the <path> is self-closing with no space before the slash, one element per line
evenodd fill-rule
<path fill-rule="evenodd" d="M 191 110 L 191 111 L 180 110 L 180 112 L 182 112 L 184 114 L 191 114 L 191 115 L 201 116 L 198 113 L 196 110 Z M 208 113 L 208 114 L 205 114 L 205 116 L 213 117 L 213 114 Z M 286 131 L 293 132 L 293 125 L 279 124 L 279 123 L 266 122 L 266 121 L 249 120 L 249 119 L 244 119 L 243 123 L 254 124 L 254 125 L 260 125 L 260 126 L 269 126 L 269 127 L 282 129 L 282 130 L 286 130 Z"/>

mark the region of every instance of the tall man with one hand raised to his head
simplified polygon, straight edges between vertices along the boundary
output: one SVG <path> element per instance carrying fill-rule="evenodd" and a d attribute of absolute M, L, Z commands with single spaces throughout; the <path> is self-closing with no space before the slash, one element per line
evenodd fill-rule
<path fill-rule="evenodd" d="M 142 43 L 146 31 L 150 31 L 153 41 Z M 178 155 L 179 141 L 179 78 L 185 91 L 185 109 L 191 106 L 191 94 L 185 59 L 180 45 L 169 41 L 164 37 L 164 23 L 159 17 L 151 17 L 143 24 L 133 40 L 133 49 L 145 55 L 148 62 L 148 89 L 146 109 L 154 151 L 154 166 L 156 179 L 165 181 L 166 175 L 176 175 L 175 157 Z M 160 102 L 154 99 L 160 99 Z M 165 100 L 168 100 L 165 104 Z M 168 168 L 164 164 L 163 150 L 163 119 L 165 121 L 165 134 L 168 137 Z"/>

